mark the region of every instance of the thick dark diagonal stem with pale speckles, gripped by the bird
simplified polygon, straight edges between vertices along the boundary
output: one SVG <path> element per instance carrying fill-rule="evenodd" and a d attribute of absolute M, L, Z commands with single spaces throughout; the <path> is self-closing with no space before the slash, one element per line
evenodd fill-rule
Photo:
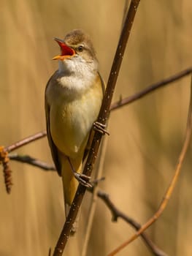
<path fill-rule="evenodd" d="M 106 124 L 107 118 L 110 113 L 110 105 L 111 105 L 111 101 L 112 101 L 112 95 L 115 90 L 115 83 L 118 78 L 120 64 L 123 59 L 123 54 L 126 49 L 126 43 L 127 43 L 129 34 L 131 32 L 131 27 L 132 27 L 132 24 L 134 21 L 134 16 L 137 12 L 138 6 L 139 6 L 139 0 L 131 1 L 130 7 L 128 10 L 128 14 L 127 14 L 124 26 L 123 26 L 123 31 L 120 35 L 120 40 L 118 42 L 118 48 L 116 50 L 115 58 L 112 63 L 110 78 L 107 83 L 107 89 L 104 94 L 104 100 L 102 102 L 101 110 L 99 113 L 98 121 L 99 121 L 99 123 L 101 123 L 101 125 Z M 96 131 L 95 135 L 93 137 L 93 142 L 91 144 L 91 150 L 89 151 L 89 154 L 88 154 L 87 162 L 85 163 L 85 167 L 82 172 L 86 176 L 91 176 L 91 172 L 93 170 L 93 165 L 96 161 L 96 156 L 97 156 L 97 153 L 99 150 L 101 137 L 102 137 L 101 133 Z M 61 256 L 64 252 L 64 248 L 65 248 L 66 243 L 69 238 L 70 230 L 72 229 L 72 224 L 73 224 L 75 218 L 77 217 L 78 209 L 80 208 L 80 205 L 82 203 L 82 198 L 85 195 L 85 190 L 86 190 L 86 188 L 80 184 L 77 189 L 77 192 L 74 196 L 74 200 L 73 200 L 72 206 L 70 208 L 69 214 L 66 217 L 66 222 L 64 224 L 64 228 L 61 231 L 60 237 L 58 238 L 58 243 L 55 246 L 55 251 L 53 253 L 54 256 Z"/>

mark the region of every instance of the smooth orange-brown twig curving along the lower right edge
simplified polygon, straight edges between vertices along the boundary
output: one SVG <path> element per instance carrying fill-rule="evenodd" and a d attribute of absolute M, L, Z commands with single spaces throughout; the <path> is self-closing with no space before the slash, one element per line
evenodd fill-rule
<path fill-rule="evenodd" d="M 125 248 L 128 244 L 130 244 L 132 241 L 134 241 L 136 238 L 138 238 L 150 225 L 153 224 L 163 213 L 164 209 L 167 206 L 167 203 L 169 202 L 169 198 L 172 195 L 172 192 L 174 190 L 174 187 L 177 183 L 178 176 L 180 174 L 181 167 L 183 165 L 183 160 L 185 159 L 185 154 L 188 150 L 188 146 L 190 144 L 191 140 L 191 129 L 192 129 L 192 77 L 191 77 L 191 95 L 190 95 L 190 104 L 188 108 L 188 121 L 187 121 L 187 127 L 186 127 L 186 132 L 185 132 L 185 140 L 183 143 L 183 148 L 180 152 L 180 156 L 177 160 L 177 165 L 174 170 L 174 176 L 172 178 L 172 181 L 169 184 L 168 189 L 166 190 L 166 193 L 164 195 L 164 198 L 158 208 L 158 210 L 155 212 L 153 217 L 151 217 L 145 225 L 142 225 L 142 227 L 137 231 L 137 233 L 134 234 L 134 236 L 131 236 L 127 241 L 125 241 L 123 244 L 118 246 L 117 249 L 112 251 L 108 256 L 113 256 L 116 255 L 118 252 L 120 252 L 123 248 Z"/>

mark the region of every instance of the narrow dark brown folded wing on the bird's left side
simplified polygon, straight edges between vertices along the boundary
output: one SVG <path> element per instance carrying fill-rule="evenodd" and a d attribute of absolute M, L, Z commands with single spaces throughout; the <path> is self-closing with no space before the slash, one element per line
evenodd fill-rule
<path fill-rule="evenodd" d="M 53 78 L 53 76 L 50 78 L 50 80 L 52 78 Z M 48 80 L 47 86 L 49 85 L 50 80 Z M 58 175 L 61 176 L 61 163 L 59 162 L 59 159 L 58 159 L 58 149 L 55 146 L 55 144 L 53 143 L 53 139 L 50 134 L 50 106 L 48 105 L 47 99 L 46 99 L 47 86 L 45 89 L 45 116 L 46 116 L 47 138 L 48 138 L 48 142 L 50 145 L 50 151 L 51 151 L 51 155 L 53 158 L 53 162 L 55 164 L 56 170 L 58 171 Z"/>

